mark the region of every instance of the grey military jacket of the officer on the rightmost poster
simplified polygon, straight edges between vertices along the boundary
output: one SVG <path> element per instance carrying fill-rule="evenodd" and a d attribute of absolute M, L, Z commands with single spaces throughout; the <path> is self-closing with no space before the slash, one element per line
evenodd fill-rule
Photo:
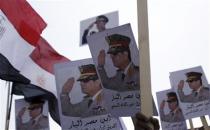
<path fill-rule="evenodd" d="M 209 88 L 203 86 L 198 92 L 192 91 L 189 95 L 185 95 L 182 89 L 178 89 L 178 94 L 182 102 L 195 103 L 210 99 Z"/>

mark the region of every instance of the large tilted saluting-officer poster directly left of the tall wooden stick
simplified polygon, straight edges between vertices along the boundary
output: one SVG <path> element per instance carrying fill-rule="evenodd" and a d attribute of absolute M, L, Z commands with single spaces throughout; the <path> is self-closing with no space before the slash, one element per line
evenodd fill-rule
<path fill-rule="evenodd" d="M 88 45 L 110 111 L 115 116 L 135 114 L 140 109 L 139 51 L 130 24 L 92 35 Z"/>

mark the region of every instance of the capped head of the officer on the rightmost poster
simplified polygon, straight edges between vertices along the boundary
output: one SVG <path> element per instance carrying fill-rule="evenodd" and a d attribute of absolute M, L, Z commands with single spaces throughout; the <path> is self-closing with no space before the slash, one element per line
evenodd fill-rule
<path fill-rule="evenodd" d="M 196 91 L 197 89 L 200 88 L 200 86 L 202 85 L 202 73 L 200 72 L 188 72 L 186 73 L 187 76 L 187 80 L 186 82 L 188 82 L 189 87 L 193 90 Z"/>

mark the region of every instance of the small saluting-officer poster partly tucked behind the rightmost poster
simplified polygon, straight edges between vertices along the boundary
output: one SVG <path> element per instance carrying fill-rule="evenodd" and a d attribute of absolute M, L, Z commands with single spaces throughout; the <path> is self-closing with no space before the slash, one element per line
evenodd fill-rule
<path fill-rule="evenodd" d="M 187 125 L 176 92 L 168 89 L 156 93 L 163 130 L 185 130 Z"/>

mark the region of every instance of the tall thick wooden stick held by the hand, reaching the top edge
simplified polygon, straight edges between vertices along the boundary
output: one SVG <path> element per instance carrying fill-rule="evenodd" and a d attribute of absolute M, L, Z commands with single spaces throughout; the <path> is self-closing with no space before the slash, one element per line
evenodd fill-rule
<path fill-rule="evenodd" d="M 151 76 L 150 76 L 150 56 L 149 56 L 149 29 L 147 0 L 137 0 L 138 15 L 138 43 L 140 58 L 140 95 L 141 112 L 146 116 L 153 115 Z"/>

